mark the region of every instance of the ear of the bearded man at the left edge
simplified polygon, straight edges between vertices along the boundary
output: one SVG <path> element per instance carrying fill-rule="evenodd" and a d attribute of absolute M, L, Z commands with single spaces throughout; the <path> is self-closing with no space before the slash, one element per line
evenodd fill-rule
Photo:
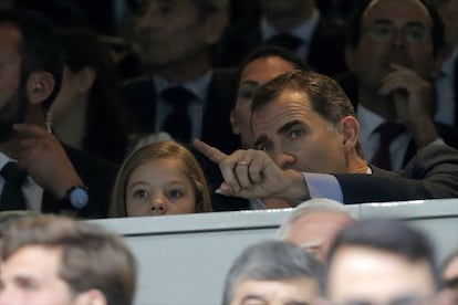
<path fill-rule="evenodd" d="M 27 80 L 25 88 L 29 102 L 37 105 L 46 99 L 55 86 L 54 76 L 49 72 L 32 72 Z"/>

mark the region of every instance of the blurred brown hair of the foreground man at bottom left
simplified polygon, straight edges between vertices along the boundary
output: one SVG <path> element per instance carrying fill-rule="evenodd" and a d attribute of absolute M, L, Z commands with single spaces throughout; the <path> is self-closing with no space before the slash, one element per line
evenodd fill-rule
<path fill-rule="evenodd" d="M 132 304 L 136 263 L 121 236 L 93 223 L 51 214 L 38 215 L 15 221 L 8 228 L 1 259 L 8 261 L 31 245 L 62 250 L 58 276 L 72 293 L 95 288 L 103 293 L 108 305 Z"/>

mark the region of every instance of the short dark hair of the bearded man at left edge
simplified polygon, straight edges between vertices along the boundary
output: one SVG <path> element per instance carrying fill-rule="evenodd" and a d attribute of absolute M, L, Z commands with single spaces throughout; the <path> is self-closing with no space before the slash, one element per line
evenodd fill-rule
<path fill-rule="evenodd" d="M 54 88 L 42 103 L 48 111 L 61 90 L 63 74 L 63 52 L 53 23 L 38 12 L 0 10 L 0 24 L 11 25 L 21 33 L 18 52 L 22 57 L 22 86 L 33 72 L 49 72 L 54 77 Z"/>

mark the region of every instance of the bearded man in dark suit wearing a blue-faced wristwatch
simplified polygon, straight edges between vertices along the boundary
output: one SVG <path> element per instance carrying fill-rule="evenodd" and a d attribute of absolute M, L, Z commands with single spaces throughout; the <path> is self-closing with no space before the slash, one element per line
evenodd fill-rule
<path fill-rule="evenodd" d="M 63 75 L 53 25 L 38 13 L 1 11 L 0 45 L 0 209 L 106 215 L 116 167 L 50 133 L 48 112 Z"/>

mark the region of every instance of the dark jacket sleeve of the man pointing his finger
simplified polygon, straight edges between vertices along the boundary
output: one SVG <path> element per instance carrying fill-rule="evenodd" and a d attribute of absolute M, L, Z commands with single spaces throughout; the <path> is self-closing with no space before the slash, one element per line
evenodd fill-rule
<path fill-rule="evenodd" d="M 418 150 L 405 170 L 335 175 L 345 203 L 458 197 L 458 151 L 446 145 Z"/>

